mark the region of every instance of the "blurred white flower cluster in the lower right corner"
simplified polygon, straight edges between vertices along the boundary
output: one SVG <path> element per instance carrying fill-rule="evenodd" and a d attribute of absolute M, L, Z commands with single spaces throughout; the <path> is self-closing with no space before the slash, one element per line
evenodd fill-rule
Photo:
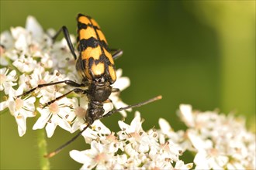
<path fill-rule="evenodd" d="M 182 104 L 178 113 L 188 126 L 187 138 L 195 152 L 196 169 L 255 169 L 255 134 L 242 117 L 214 111 L 192 111 Z"/>

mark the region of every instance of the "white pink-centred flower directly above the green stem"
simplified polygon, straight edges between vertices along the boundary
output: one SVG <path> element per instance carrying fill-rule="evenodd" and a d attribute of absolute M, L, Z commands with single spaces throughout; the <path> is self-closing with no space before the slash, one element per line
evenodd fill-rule
<path fill-rule="evenodd" d="M 61 93 L 57 93 L 61 96 Z M 60 126 L 66 131 L 71 132 L 71 121 L 74 119 L 74 113 L 70 109 L 70 100 L 67 97 L 55 101 L 47 107 L 37 108 L 41 116 L 33 125 L 33 130 L 42 129 L 46 125 L 47 137 L 50 138 L 54 134 L 55 128 Z"/>

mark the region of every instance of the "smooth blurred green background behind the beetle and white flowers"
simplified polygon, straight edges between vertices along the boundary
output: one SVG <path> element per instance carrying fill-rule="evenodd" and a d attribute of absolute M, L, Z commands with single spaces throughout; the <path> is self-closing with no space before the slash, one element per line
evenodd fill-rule
<path fill-rule="evenodd" d="M 254 130 L 255 1 L 1 0 L 0 28 L 2 32 L 24 26 L 26 17 L 34 15 L 44 29 L 67 26 L 75 34 L 78 12 L 99 22 L 109 46 L 123 49 L 116 67 L 131 80 L 122 93 L 126 104 L 163 96 L 136 109 L 145 119 L 144 129 L 158 128 L 159 117 L 167 119 L 175 130 L 184 128 L 175 113 L 179 104 L 192 104 L 199 110 L 218 108 L 244 115 Z M 118 131 L 120 117 L 116 114 L 104 123 Z M 132 118 L 133 113 L 126 121 Z M 1 168 L 40 168 L 42 155 L 37 152 L 36 131 L 31 130 L 35 121 L 28 119 L 22 138 L 14 117 L 3 114 L 0 121 Z M 57 128 L 47 140 L 48 150 L 72 136 Z M 51 168 L 80 168 L 68 151 L 85 148 L 88 145 L 79 138 L 50 159 Z"/>

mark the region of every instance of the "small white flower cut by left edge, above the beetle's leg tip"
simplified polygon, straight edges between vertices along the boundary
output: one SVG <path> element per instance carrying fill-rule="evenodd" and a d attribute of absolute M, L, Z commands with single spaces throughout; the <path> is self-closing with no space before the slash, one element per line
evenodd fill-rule
<path fill-rule="evenodd" d="M 9 94 L 10 88 L 17 84 L 13 83 L 16 80 L 16 70 L 9 73 L 9 69 L 0 69 L 0 91 L 5 90 L 5 94 Z"/>

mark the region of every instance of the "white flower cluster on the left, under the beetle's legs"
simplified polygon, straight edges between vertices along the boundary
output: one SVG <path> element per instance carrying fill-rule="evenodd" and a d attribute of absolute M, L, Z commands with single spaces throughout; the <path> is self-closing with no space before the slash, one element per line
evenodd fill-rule
<path fill-rule="evenodd" d="M 40 114 L 33 130 L 45 128 L 47 137 L 54 134 L 57 126 L 73 133 L 85 123 L 87 97 L 70 94 L 55 101 L 47 107 L 42 107 L 50 100 L 60 97 L 70 91 L 63 83 L 36 89 L 29 95 L 17 97 L 22 93 L 36 88 L 39 84 L 53 83 L 61 80 L 81 82 L 75 70 L 75 61 L 67 47 L 65 39 L 53 42 L 55 31 L 46 32 L 32 16 L 26 20 L 25 28 L 11 28 L 2 32 L 0 47 L 0 111 L 9 109 L 16 118 L 19 136 L 26 133 L 26 118 Z M 71 36 L 74 42 L 74 36 Z M 130 85 L 127 77 L 121 77 L 122 70 L 116 71 L 117 80 L 113 87 L 124 90 Z M 110 99 L 115 107 L 125 107 L 118 97 L 112 93 Z M 105 104 L 109 111 L 112 104 Z M 126 117 L 126 112 L 122 112 Z"/>

